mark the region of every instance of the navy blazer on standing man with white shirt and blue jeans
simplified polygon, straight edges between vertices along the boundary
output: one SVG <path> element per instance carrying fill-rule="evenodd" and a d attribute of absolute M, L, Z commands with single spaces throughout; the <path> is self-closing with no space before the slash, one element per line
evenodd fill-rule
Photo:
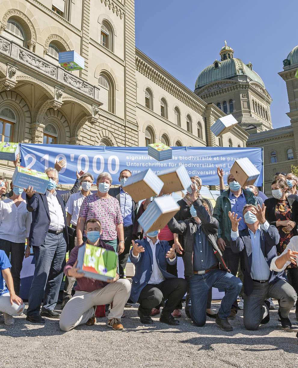
<path fill-rule="evenodd" d="M 64 216 L 64 236 L 68 248 L 68 231 L 66 224 L 65 204 L 68 201 L 69 195 L 77 193 L 80 188 L 80 183 L 76 181 L 72 189 L 66 194 L 59 194 L 57 191 L 57 200 L 61 205 Z M 50 212 L 46 194 L 34 193 L 31 198 L 26 195 L 27 209 L 32 212 L 32 223 L 29 233 L 29 245 L 32 247 L 40 247 L 46 238 L 50 226 Z"/>

